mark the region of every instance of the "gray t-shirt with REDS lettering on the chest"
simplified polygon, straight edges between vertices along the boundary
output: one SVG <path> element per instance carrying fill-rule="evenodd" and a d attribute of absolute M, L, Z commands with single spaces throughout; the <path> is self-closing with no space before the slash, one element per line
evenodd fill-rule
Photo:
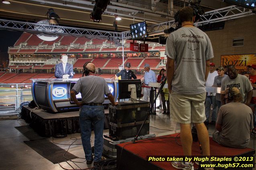
<path fill-rule="evenodd" d="M 247 101 L 247 93 L 253 89 L 250 80 L 241 74 L 238 74 L 238 76 L 233 80 L 230 79 L 229 76 L 222 79 L 221 91 L 225 90 L 225 88 L 230 88 L 230 86 L 235 86 L 239 89 L 242 96 L 241 103 L 245 103 Z"/>

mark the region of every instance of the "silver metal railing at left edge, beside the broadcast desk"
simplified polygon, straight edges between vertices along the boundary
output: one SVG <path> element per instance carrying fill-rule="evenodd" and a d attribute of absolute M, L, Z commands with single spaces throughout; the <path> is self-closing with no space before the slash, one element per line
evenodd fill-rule
<path fill-rule="evenodd" d="M 31 100 L 31 84 L 0 84 L 0 115 L 19 114 L 20 104 Z"/>

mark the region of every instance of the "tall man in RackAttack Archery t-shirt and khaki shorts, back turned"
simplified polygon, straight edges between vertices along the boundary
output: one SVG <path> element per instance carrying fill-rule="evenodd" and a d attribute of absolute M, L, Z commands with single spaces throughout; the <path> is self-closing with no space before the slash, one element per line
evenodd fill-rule
<path fill-rule="evenodd" d="M 193 26 L 193 8 L 179 11 L 181 28 L 167 38 L 167 82 L 170 92 L 171 118 L 181 126 L 181 143 L 185 156 L 191 156 L 191 122 L 195 123 L 203 155 L 210 155 L 205 118 L 205 81 L 213 49 L 207 34 Z M 193 170 L 191 162 L 172 162 L 178 169 Z M 212 168 L 211 168 L 212 169 Z"/>

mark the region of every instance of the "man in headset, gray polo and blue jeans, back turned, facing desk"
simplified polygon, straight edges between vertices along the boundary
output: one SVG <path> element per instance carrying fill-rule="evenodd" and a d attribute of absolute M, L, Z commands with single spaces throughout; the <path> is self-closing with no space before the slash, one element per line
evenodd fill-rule
<path fill-rule="evenodd" d="M 103 128 L 104 128 L 104 94 L 108 96 L 113 106 L 118 105 L 114 101 L 106 80 L 97 77 L 95 66 L 91 62 L 86 62 L 83 66 L 85 77 L 81 77 L 70 91 L 71 99 L 80 106 L 79 124 L 83 150 L 85 152 L 86 164 L 91 164 L 93 157 L 91 154 L 91 126 L 93 125 L 94 137 L 94 162 L 97 164 L 102 157 L 103 151 Z M 82 101 L 78 102 L 76 94 L 81 92 Z"/>

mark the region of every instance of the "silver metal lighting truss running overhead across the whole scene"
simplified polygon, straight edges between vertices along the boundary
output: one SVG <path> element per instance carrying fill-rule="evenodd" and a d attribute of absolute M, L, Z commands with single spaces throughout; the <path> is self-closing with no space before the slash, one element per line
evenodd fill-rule
<path fill-rule="evenodd" d="M 217 10 L 211 10 L 209 12 L 205 12 L 203 16 L 201 16 L 199 22 L 196 22 L 195 25 L 203 25 L 214 22 L 221 22 L 226 20 L 232 20 L 236 18 L 241 18 L 245 16 L 253 15 L 252 10 L 248 10 L 247 8 L 239 7 L 239 6 L 228 6 L 225 8 L 220 8 Z M 155 24 L 148 26 L 148 36 L 164 34 L 165 29 L 170 27 L 175 27 L 175 21 L 163 22 L 160 24 Z M 49 28 L 52 29 L 49 29 Z M 110 31 L 102 31 L 102 30 L 92 30 L 92 29 L 84 29 L 84 28 L 72 28 L 66 26 L 51 26 L 45 24 L 37 24 L 37 23 L 28 23 L 28 22 L 18 22 L 11 20 L 2 20 L 0 19 L 0 28 L 6 28 L 10 30 L 19 30 L 24 32 L 43 32 L 45 34 L 56 34 L 56 35 L 67 35 L 72 34 L 73 36 L 81 37 L 81 36 L 101 36 L 101 37 L 113 37 L 118 39 L 129 39 L 131 38 L 130 31 L 124 32 L 110 32 Z M 37 30 L 36 28 L 46 28 L 47 31 Z M 56 30 L 61 29 L 62 32 L 59 33 Z M 50 31 L 49 31 L 50 30 Z M 52 30 L 52 31 L 51 31 Z"/>

